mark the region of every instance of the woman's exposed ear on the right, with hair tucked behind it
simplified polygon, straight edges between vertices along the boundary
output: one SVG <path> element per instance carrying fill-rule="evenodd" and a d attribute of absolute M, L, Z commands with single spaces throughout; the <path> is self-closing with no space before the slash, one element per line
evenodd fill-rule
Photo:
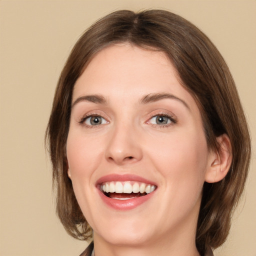
<path fill-rule="evenodd" d="M 205 173 L 205 181 L 208 183 L 218 182 L 224 178 L 232 162 L 232 149 L 229 137 L 226 134 L 222 134 L 216 140 L 219 148 L 216 152 L 211 151 Z"/>

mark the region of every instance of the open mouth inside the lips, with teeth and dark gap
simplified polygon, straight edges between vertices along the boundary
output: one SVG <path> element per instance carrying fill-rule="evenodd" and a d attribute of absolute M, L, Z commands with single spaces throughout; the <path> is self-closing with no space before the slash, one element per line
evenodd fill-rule
<path fill-rule="evenodd" d="M 136 181 L 110 181 L 100 184 L 100 191 L 107 197 L 128 200 L 153 192 L 156 186 Z"/>

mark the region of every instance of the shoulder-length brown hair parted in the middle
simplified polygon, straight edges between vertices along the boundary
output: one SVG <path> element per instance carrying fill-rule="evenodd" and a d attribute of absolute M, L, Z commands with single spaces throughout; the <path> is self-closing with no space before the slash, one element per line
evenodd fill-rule
<path fill-rule="evenodd" d="M 247 176 L 250 139 L 234 81 L 222 56 L 197 27 L 168 11 L 112 12 L 95 22 L 74 45 L 58 80 L 46 130 L 57 214 L 70 235 L 91 237 L 67 177 L 65 146 L 71 98 L 75 81 L 95 53 L 118 42 L 165 52 L 201 110 L 208 147 L 218 150 L 216 136 L 223 133 L 231 141 L 232 164 L 227 175 L 203 186 L 196 230 L 196 246 L 203 255 L 207 248 L 216 248 L 226 239 L 231 213 Z"/>

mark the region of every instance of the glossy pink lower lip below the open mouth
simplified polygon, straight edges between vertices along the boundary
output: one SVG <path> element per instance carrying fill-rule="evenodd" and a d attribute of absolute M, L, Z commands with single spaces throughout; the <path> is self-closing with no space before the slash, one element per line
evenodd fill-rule
<path fill-rule="evenodd" d="M 118 200 L 118 199 L 113 199 L 113 198 L 107 197 L 100 190 L 98 190 L 98 191 L 99 191 L 99 195 L 100 195 L 101 199 L 103 200 L 103 202 L 105 204 L 107 204 L 108 206 L 110 206 L 111 208 L 114 208 L 116 210 L 134 209 L 135 207 L 139 206 L 140 204 L 142 204 L 145 201 L 147 201 L 148 199 L 150 199 L 151 196 L 154 194 L 154 191 L 153 191 L 153 192 L 143 195 L 143 196 L 134 197 L 134 198 L 130 198 L 127 200 Z"/>

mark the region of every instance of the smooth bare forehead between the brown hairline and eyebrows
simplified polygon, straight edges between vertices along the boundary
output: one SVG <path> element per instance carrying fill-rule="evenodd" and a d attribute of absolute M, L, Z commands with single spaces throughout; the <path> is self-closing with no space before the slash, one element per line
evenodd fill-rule
<path fill-rule="evenodd" d="M 162 51 L 129 43 L 114 44 L 99 51 L 77 79 L 73 100 L 86 94 L 135 100 L 149 93 L 172 93 L 194 104 L 180 84 L 176 70 Z"/>

